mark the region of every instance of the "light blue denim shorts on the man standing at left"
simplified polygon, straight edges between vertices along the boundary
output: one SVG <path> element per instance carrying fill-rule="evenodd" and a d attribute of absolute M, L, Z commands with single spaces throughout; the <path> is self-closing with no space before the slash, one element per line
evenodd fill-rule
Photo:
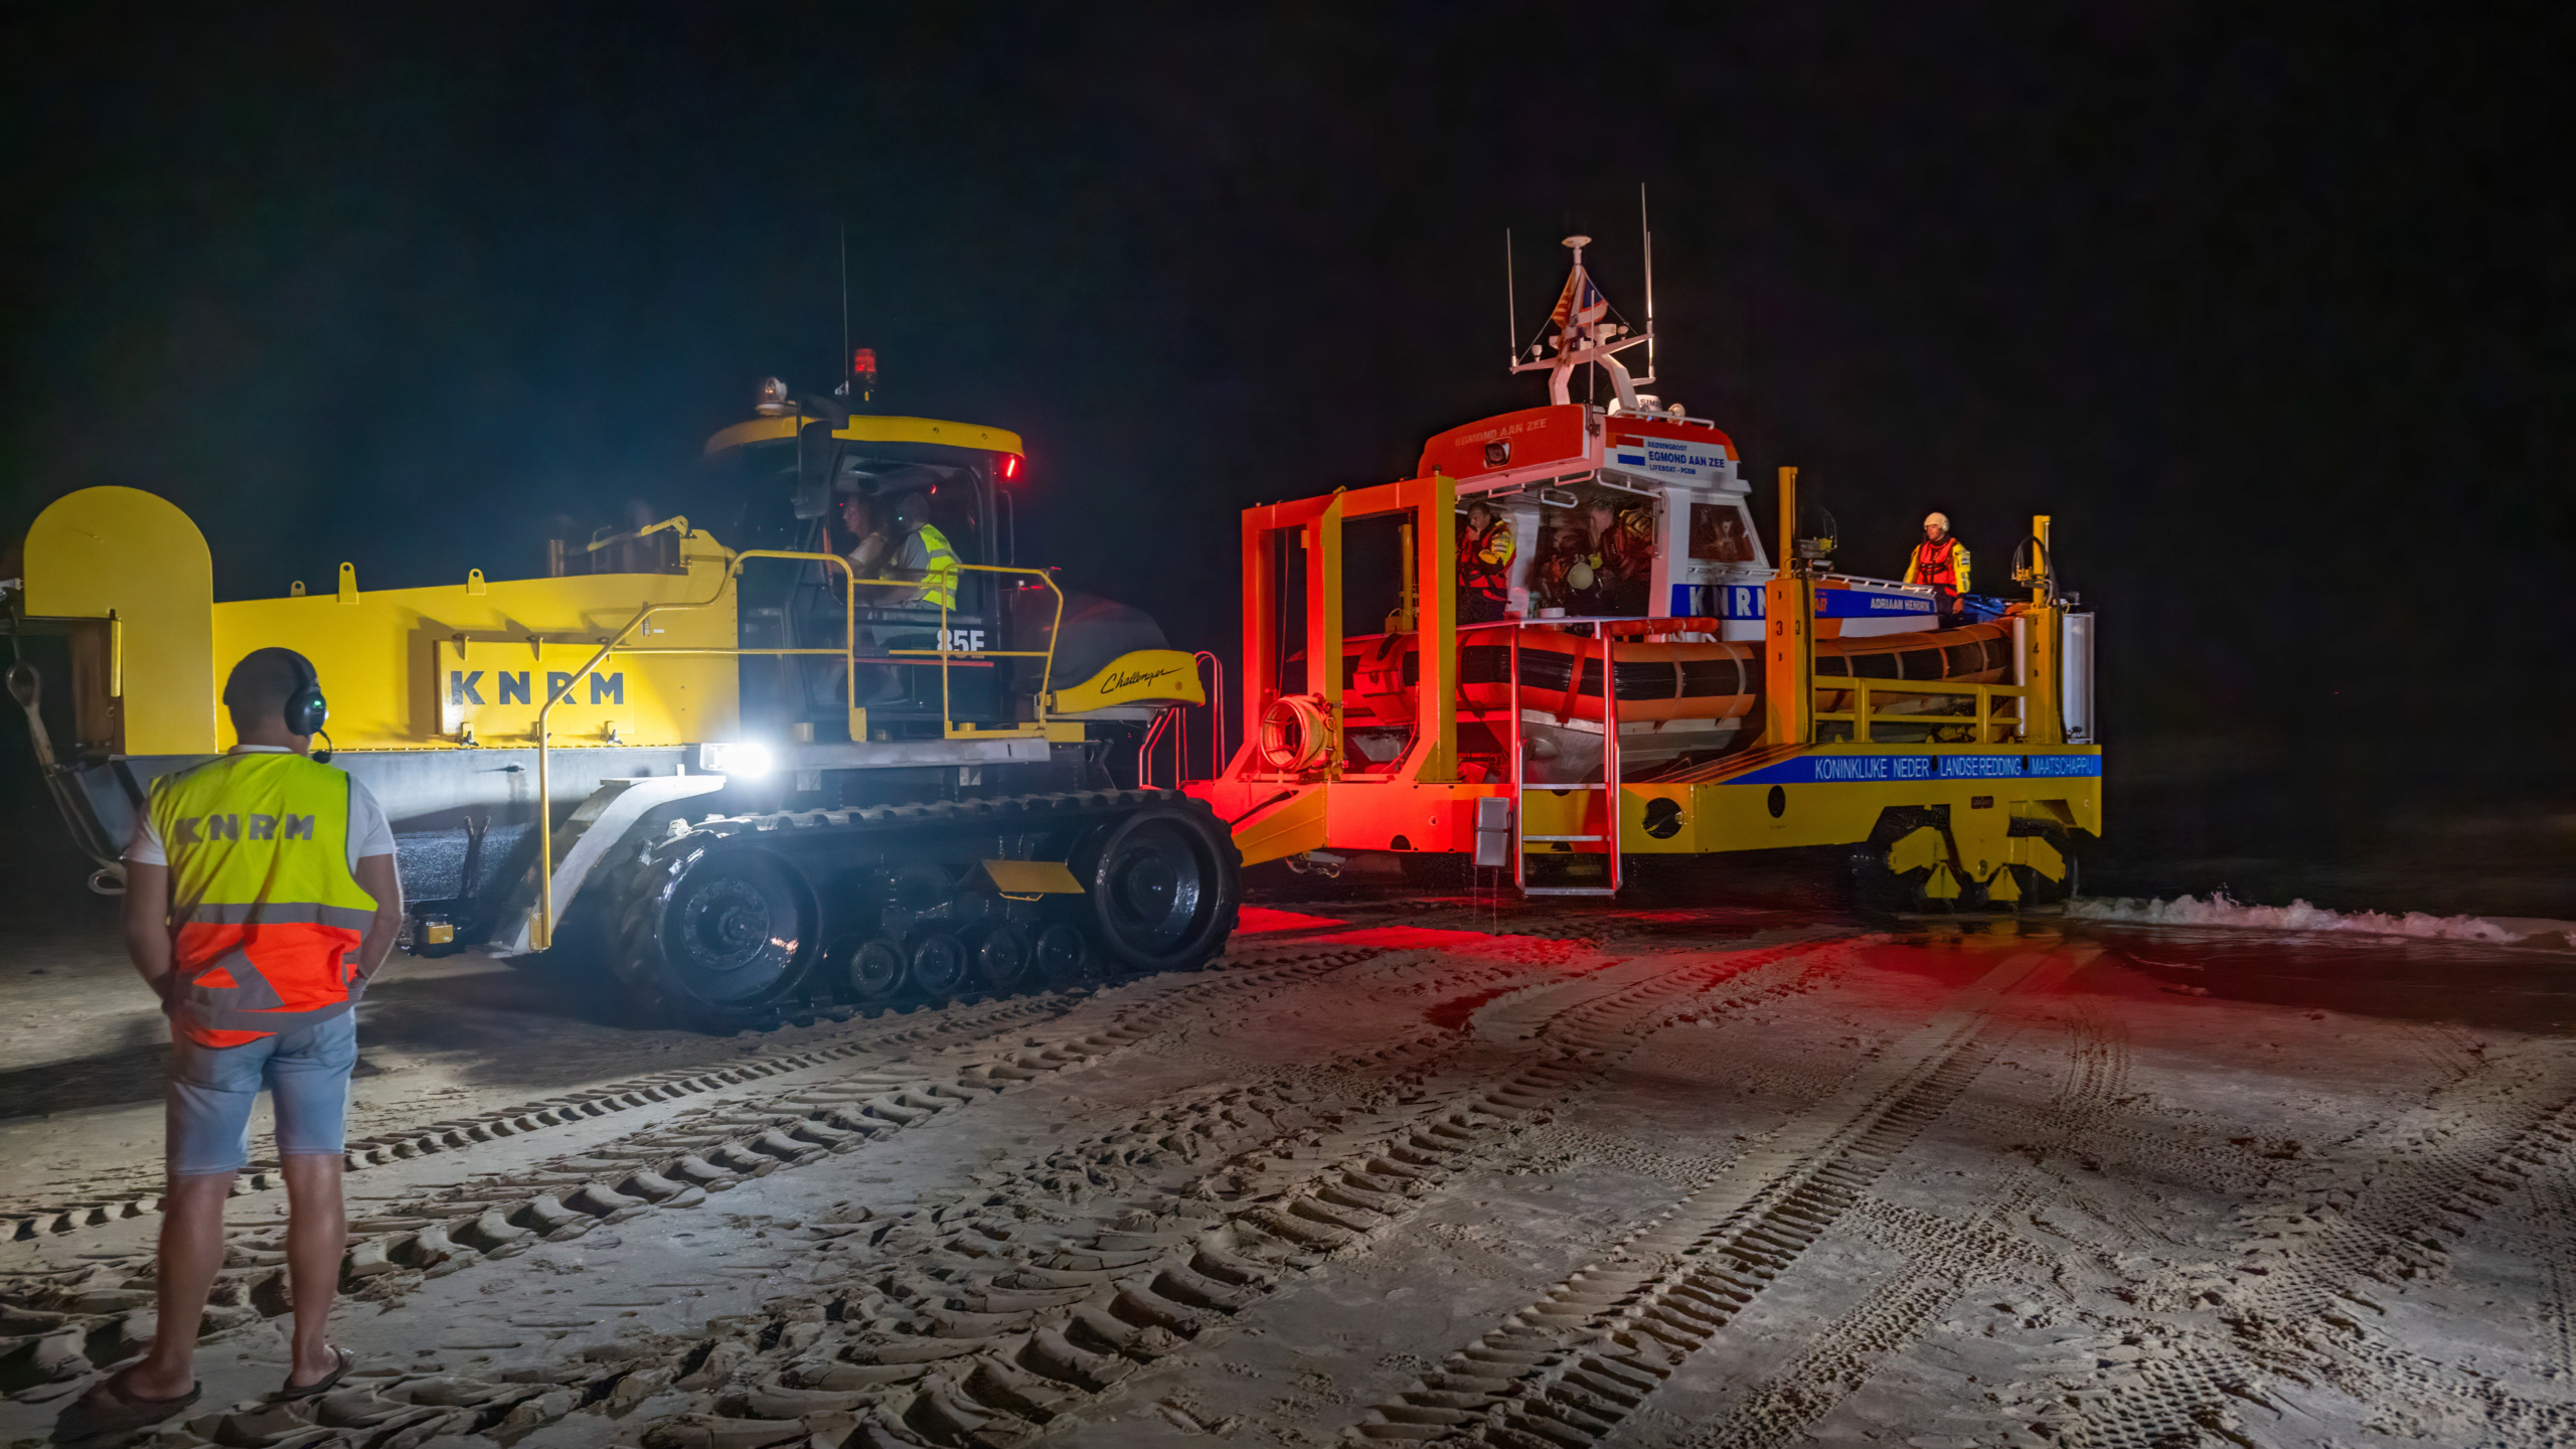
<path fill-rule="evenodd" d="M 337 1158 L 348 1150 L 348 1070 L 358 1065 L 358 1013 L 240 1047 L 198 1047 L 173 1031 L 167 1168 L 175 1176 L 237 1173 L 250 1163 L 250 1106 L 260 1083 L 276 1096 L 278 1155 Z"/>

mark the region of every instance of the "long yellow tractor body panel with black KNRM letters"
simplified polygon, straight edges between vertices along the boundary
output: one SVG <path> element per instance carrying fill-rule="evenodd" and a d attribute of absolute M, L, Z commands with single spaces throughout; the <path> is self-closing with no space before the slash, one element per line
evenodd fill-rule
<path fill-rule="evenodd" d="M 706 534 L 683 547 L 685 575 L 600 572 L 572 578 L 489 580 L 438 588 L 374 588 L 355 603 L 332 596 L 245 598 L 214 606 L 214 660 L 234 660 L 263 645 L 301 650 L 330 696 L 330 735 L 343 750 L 417 750 L 461 743 L 474 724 L 482 745 L 533 743 L 544 673 L 572 673 L 634 614 L 657 601 L 701 601 L 724 583 L 724 552 Z M 464 634 L 464 660 L 456 637 Z M 531 642 L 533 639 L 533 642 Z M 667 611 L 631 639 L 639 647 L 732 647 L 734 593 L 711 608 Z M 489 663 L 487 663 L 489 660 Z M 489 668 L 484 706 L 451 704 L 451 670 Z M 497 673 L 528 673 L 531 704 L 500 704 Z M 590 683 L 556 706 L 554 743 L 608 745 L 608 724 L 626 745 L 685 745 L 724 740 L 739 730 L 737 663 L 726 655 L 611 655 L 600 673 L 621 676 L 626 701 L 590 706 Z M 603 686 L 605 688 L 605 686 Z M 461 714 L 456 709 L 464 709 Z M 232 745 L 232 722 L 219 727 Z"/>

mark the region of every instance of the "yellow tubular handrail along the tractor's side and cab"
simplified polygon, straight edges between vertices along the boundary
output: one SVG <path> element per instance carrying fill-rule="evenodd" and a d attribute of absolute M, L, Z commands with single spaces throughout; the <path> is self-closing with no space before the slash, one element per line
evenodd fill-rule
<path fill-rule="evenodd" d="M 747 565 L 752 559 L 796 559 L 796 562 L 817 562 L 817 565 L 837 567 L 845 575 L 845 580 L 848 580 L 848 588 L 842 590 L 842 619 L 840 619 L 842 647 L 837 647 L 837 650 L 829 650 L 829 647 L 822 647 L 822 650 L 750 647 L 747 650 L 742 645 L 662 645 L 662 647 L 629 647 L 626 645 L 626 639 L 636 629 L 641 629 L 644 621 L 652 619 L 654 614 L 685 614 L 685 611 L 693 611 L 693 608 L 714 608 L 716 603 L 721 603 L 724 601 L 724 590 L 734 588 L 734 580 L 742 578 L 742 565 Z M 958 567 L 958 570 L 974 570 L 974 572 L 1020 572 L 1020 575 L 1036 575 L 1048 588 L 1048 593 L 1056 596 L 1056 619 L 1046 629 L 1046 647 L 1043 650 L 953 650 L 951 645 L 956 642 L 956 634 L 948 629 L 948 606 L 940 603 L 940 647 L 938 650 L 886 650 L 886 655 L 907 655 L 907 657 L 920 655 L 920 657 L 938 657 L 940 660 L 940 735 L 943 737 L 948 737 L 948 740 L 1043 737 L 1046 735 L 1046 691 L 1054 688 L 1054 678 L 1056 678 L 1056 632 L 1064 627 L 1064 590 L 1056 588 L 1056 580 L 1046 570 L 1010 567 L 1010 565 L 953 565 L 953 567 Z M 811 552 L 799 552 L 799 549 L 742 549 L 742 552 L 726 549 L 724 578 L 716 580 L 716 593 L 711 593 L 706 598 L 696 598 L 696 601 L 662 601 L 662 603 L 647 603 L 644 608 L 636 608 L 636 616 L 629 619 L 616 634 L 611 634 L 608 639 L 603 639 L 600 647 L 598 647 L 598 652 L 592 652 L 587 660 L 582 660 L 582 668 L 572 670 L 564 678 L 562 688 L 549 688 L 546 691 L 546 704 L 538 706 L 538 712 L 536 712 L 536 871 L 538 871 L 538 895 L 536 895 L 536 920 L 528 926 L 528 946 L 531 949 L 544 951 L 544 949 L 554 946 L 554 771 L 551 771 L 551 755 L 549 755 L 551 732 L 546 730 L 546 719 L 554 714 L 554 706 L 562 704 L 564 699 L 572 699 L 572 688 L 577 683 L 582 683 L 585 678 L 590 678 L 590 673 L 598 670 L 600 663 L 608 660 L 608 655 L 613 655 L 613 652 L 621 652 L 621 655 L 734 655 L 734 657 L 742 657 L 742 655 L 762 655 L 762 657 L 781 657 L 781 655 L 837 655 L 837 657 L 850 657 L 850 655 L 858 652 L 858 590 L 863 585 L 871 585 L 871 588 L 876 588 L 876 585 L 884 585 L 884 588 L 920 588 L 922 580 L 917 580 L 917 578 L 858 578 L 858 572 L 850 567 L 850 559 L 845 559 L 840 554 L 811 554 Z M 948 694 L 948 668 L 951 668 L 948 663 L 953 657 L 963 657 L 969 652 L 976 655 L 976 657 L 1046 660 L 1041 665 L 1041 670 L 1038 670 L 1038 704 L 1036 704 L 1038 714 L 1036 714 L 1036 719 L 1030 724 L 1020 724 L 1020 727 L 1005 724 L 1005 727 L 997 727 L 997 730 L 981 730 L 976 724 L 958 727 L 956 714 L 953 714 L 953 704 L 951 704 L 951 694 Z M 842 673 L 842 688 L 845 688 L 845 701 L 848 701 L 845 706 L 850 712 L 850 737 L 858 740 L 866 732 L 866 719 L 868 717 L 858 706 L 858 670 L 855 668 Z"/>

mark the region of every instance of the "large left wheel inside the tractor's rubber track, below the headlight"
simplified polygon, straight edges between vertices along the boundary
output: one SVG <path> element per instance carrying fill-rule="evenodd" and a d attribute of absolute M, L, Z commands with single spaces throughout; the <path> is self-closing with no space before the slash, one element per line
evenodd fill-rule
<path fill-rule="evenodd" d="M 659 897 L 649 957 L 636 962 L 677 1016 L 762 1013 L 814 964 L 804 879 L 762 851 L 703 851 Z"/>

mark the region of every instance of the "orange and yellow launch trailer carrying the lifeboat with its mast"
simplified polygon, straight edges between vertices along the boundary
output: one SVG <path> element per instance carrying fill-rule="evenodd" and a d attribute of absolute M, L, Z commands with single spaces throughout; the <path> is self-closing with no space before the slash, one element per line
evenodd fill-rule
<path fill-rule="evenodd" d="M 2063 897 L 2102 750 L 2048 518 L 2027 598 L 1945 598 L 1834 572 L 1780 469 L 1772 562 L 1734 441 L 1638 392 L 1618 353 L 1651 327 L 1569 245 L 1592 307 L 1515 358 L 1551 405 L 1440 433 L 1417 477 L 1244 511 L 1247 737 L 1188 786 L 1244 864 L 1448 853 L 1613 895 L 1646 856 L 1850 846 L 1893 908 Z M 1582 364 L 1615 402 L 1569 397 Z"/>

